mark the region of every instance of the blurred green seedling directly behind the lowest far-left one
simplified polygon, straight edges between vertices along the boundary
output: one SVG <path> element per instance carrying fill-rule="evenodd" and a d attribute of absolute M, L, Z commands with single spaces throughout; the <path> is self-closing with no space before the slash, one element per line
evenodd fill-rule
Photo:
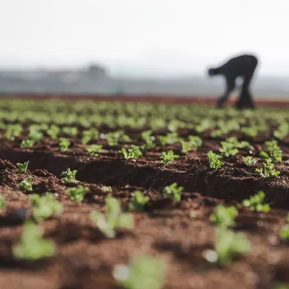
<path fill-rule="evenodd" d="M 37 222 L 47 219 L 53 214 L 60 214 L 63 211 L 62 205 L 55 201 L 52 193 L 42 197 L 37 194 L 31 194 L 30 202 L 33 205 L 33 217 Z"/>

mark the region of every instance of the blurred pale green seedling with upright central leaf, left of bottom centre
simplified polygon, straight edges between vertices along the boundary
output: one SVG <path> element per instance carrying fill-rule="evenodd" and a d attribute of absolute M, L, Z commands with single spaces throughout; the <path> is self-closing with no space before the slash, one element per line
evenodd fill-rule
<path fill-rule="evenodd" d="M 115 237 L 116 228 L 133 229 L 133 218 L 130 214 L 121 213 L 120 202 L 108 196 L 105 199 L 106 216 L 100 212 L 91 212 L 90 219 L 95 222 L 99 230 L 108 238 Z"/>

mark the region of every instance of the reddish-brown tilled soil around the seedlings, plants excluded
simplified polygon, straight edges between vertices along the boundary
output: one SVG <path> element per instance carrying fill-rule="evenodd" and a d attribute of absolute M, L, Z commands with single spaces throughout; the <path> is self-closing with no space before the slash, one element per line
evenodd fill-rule
<path fill-rule="evenodd" d="M 105 126 L 98 129 L 103 133 L 108 130 Z M 182 155 L 176 144 L 157 146 L 138 160 L 128 161 L 118 153 L 123 144 L 109 147 L 106 140 L 96 142 L 104 149 L 98 157 L 88 156 L 77 137 L 71 139 L 72 147 L 66 153 L 59 152 L 57 142 L 48 138 L 33 149 L 21 149 L 26 133 L 13 142 L 1 139 L 0 143 L 0 159 L 9 160 L 0 162 L 0 193 L 7 202 L 0 214 L 0 288 L 118 288 L 112 277 L 113 266 L 127 264 L 137 253 L 167 261 L 166 289 L 266 289 L 275 282 L 289 282 L 289 249 L 279 238 L 289 209 L 288 137 L 279 143 L 284 161 L 276 165 L 280 177 L 262 179 L 254 173 L 261 163 L 244 165 L 241 156 L 246 156 L 247 151 L 225 158 L 226 166 L 219 170 L 208 168 L 206 154 L 209 150 L 217 152 L 221 140 L 212 139 L 208 132 L 202 135 L 202 147 L 187 155 Z M 126 133 L 132 143 L 142 145 L 139 131 L 126 129 Z M 186 136 L 194 131 L 182 130 L 179 134 Z M 236 134 L 223 138 L 228 136 L 248 140 Z M 268 131 L 250 139 L 255 148 L 252 156 L 258 156 L 263 141 L 270 136 Z M 161 152 L 170 149 L 180 159 L 167 167 L 160 166 Z M 16 163 L 28 160 L 29 171 L 17 173 Z M 76 185 L 61 181 L 60 175 L 67 168 L 78 170 L 77 185 L 89 188 L 82 203 L 71 201 L 65 194 L 67 187 Z M 20 191 L 18 184 L 30 175 L 33 191 Z M 162 194 L 162 189 L 173 182 L 185 189 L 178 204 Z M 145 212 L 133 213 L 134 230 L 118 230 L 115 239 L 107 239 L 89 220 L 92 210 L 104 210 L 107 193 L 100 190 L 101 185 L 113 187 L 113 195 L 121 200 L 124 211 L 134 190 L 150 196 Z M 258 190 L 265 192 L 265 202 L 271 204 L 269 214 L 252 212 L 239 204 Z M 44 236 L 57 243 L 58 254 L 37 262 L 16 261 L 11 248 L 21 236 L 25 219 L 31 216 L 29 194 L 48 191 L 55 193 L 64 206 L 62 214 L 41 222 Z M 234 230 L 244 231 L 251 242 L 251 251 L 235 258 L 227 268 L 209 263 L 202 255 L 214 246 L 214 227 L 209 217 L 218 203 L 238 207 Z M 26 214 L 23 209 L 27 209 Z M 190 217 L 191 211 L 195 218 Z"/>

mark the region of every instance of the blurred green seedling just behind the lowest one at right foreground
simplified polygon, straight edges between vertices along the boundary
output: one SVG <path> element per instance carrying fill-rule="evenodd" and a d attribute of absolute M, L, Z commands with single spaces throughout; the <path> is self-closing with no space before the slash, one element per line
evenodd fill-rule
<path fill-rule="evenodd" d="M 228 228 L 235 225 L 235 218 L 238 215 L 236 207 L 224 207 L 218 205 L 210 216 L 210 221 L 217 227 Z"/>

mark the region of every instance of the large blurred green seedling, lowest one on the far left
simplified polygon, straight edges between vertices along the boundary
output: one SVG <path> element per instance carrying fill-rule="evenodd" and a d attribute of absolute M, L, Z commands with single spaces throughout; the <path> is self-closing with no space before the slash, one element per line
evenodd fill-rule
<path fill-rule="evenodd" d="M 42 238 L 41 229 L 32 221 L 26 221 L 19 243 L 12 248 L 16 259 L 38 260 L 56 254 L 56 246 L 52 240 Z"/>

